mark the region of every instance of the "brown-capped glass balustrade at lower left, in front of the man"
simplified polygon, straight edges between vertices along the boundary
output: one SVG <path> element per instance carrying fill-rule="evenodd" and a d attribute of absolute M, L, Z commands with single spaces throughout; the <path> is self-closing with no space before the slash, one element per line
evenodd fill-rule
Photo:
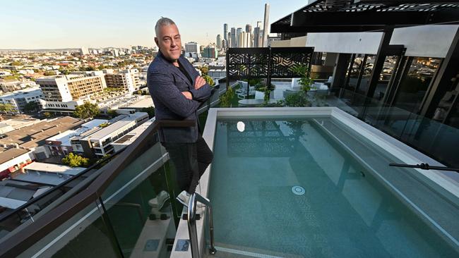
<path fill-rule="evenodd" d="M 191 124 L 153 123 L 85 188 L 2 239 L 0 257 L 167 257 L 181 207 L 171 206 L 174 179 L 157 128 Z"/>

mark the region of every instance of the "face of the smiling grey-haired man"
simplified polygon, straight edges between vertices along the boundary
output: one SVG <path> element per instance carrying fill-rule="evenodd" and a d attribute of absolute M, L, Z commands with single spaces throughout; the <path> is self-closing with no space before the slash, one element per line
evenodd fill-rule
<path fill-rule="evenodd" d="M 177 61 L 181 52 L 181 39 L 179 29 L 176 25 L 166 25 L 160 27 L 160 31 L 155 37 L 157 47 L 166 59 Z"/>

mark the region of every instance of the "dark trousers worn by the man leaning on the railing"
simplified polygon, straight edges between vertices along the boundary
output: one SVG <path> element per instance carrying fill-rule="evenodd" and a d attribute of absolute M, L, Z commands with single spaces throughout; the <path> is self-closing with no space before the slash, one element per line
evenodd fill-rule
<path fill-rule="evenodd" d="M 161 144 L 169 152 L 180 192 L 186 190 L 193 194 L 205 168 L 213 159 L 213 153 L 207 143 L 200 134 L 198 140 L 193 143 L 162 142 Z"/>

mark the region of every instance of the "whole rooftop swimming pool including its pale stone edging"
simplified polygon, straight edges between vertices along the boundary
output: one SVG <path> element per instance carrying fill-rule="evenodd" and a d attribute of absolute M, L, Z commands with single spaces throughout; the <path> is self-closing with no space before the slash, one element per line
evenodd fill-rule
<path fill-rule="evenodd" d="M 204 137 L 220 254 L 458 256 L 457 184 L 389 167 L 435 162 L 342 111 L 217 109 Z"/>

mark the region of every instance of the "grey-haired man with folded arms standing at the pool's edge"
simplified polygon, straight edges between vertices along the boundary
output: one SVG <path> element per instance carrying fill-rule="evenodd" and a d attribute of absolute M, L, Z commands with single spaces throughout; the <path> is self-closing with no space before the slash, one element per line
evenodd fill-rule
<path fill-rule="evenodd" d="M 189 196 L 196 190 L 199 179 L 213 159 L 198 130 L 196 110 L 210 97 L 210 85 L 181 54 L 179 29 L 169 18 L 160 18 L 155 25 L 155 42 L 160 49 L 150 63 L 147 85 L 155 104 L 155 116 L 161 120 L 193 120 L 188 128 L 160 128 L 160 142 L 169 152 L 174 164 L 177 197 L 188 205 Z"/>

